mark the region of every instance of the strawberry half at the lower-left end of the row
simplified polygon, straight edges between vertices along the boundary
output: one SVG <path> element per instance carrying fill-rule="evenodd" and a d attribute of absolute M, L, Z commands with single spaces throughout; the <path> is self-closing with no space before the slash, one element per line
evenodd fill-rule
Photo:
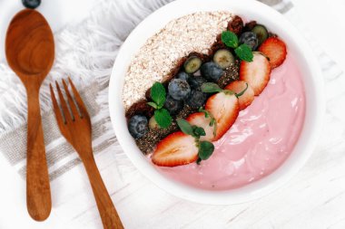
<path fill-rule="evenodd" d="M 198 158 L 195 139 L 182 133 L 174 132 L 163 138 L 153 152 L 153 163 L 160 167 L 177 167 L 192 163 Z"/>

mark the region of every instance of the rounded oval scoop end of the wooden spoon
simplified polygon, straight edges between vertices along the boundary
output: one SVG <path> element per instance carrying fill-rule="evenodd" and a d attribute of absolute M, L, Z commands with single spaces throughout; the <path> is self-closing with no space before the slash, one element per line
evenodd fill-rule
<path fill-rule="evenodd" d="M 44 81 L 54 62 L 54 37 L 44 16 L 30 9 L 16 14 L 7 30 L 5 52 L 21 79 L 34 75 Z"/>

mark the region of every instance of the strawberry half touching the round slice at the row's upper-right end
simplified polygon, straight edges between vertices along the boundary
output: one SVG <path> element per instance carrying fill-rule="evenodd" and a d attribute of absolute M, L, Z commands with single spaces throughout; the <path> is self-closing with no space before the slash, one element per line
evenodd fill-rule
<path fill-rule="evenodd" d="M 270 81 L 271 65 L 260 52 L 253 52 L 252 62 L 241 62 L 240 80 L 251 85 L 255 95 L 259 95 Z"/>

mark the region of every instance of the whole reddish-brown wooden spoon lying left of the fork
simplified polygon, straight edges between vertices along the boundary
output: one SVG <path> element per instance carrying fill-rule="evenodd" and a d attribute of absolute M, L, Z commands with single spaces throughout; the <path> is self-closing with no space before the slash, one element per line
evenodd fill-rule
<path fill-rule="evenodd" d="M 50 215 L 52 200 L 39 90 L 54 62 L 54 37 L 44 16 L 31 9 L 16 14 L 7 30 L 5 52 L 27 93 L 27 210 L 34 220 L 43 221 Z"/>

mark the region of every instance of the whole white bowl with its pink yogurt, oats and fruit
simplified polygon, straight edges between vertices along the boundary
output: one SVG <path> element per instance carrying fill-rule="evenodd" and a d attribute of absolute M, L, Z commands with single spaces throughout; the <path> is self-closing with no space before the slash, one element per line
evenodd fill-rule
<path fill-rule="evenodd" d="M 320 107 L 311 100 L 318 86 L 301 54 L 304 41 L 266 18 L 281 19 L 266 6 L 258 6 L 270 12 L 262 15 L 246 4 L 202 1 L 200 11 L 171 15 L 150 33 L 134 31 L 129 43 L 144 39 L 123 45 L 131 55 L 115 62 L 116 136 L 144 174 L 178 196 L 216 204 L 220 196 L 232 203 L 260 196 L 305 161 L 315 134 L 306 131 L 318 129 L 310 126 L 317 121 L 311 110 Z"/>

